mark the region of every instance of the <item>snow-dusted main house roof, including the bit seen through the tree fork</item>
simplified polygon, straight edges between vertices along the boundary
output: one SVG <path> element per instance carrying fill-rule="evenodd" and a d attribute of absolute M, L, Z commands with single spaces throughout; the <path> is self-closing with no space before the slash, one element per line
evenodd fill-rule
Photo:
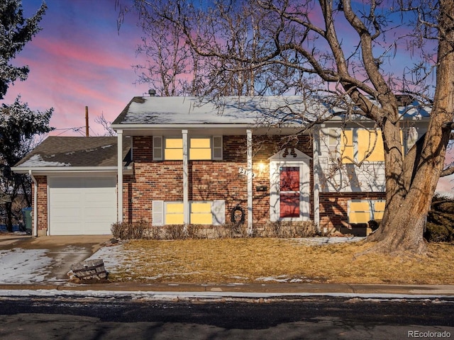
<path fill-rule="evenodd" d="M 399 97 L 400 98 L 400 97 Z M 339 115 L 345 108 L 336 106 L 331 97 L 304 96 L 225 96 L 204 97 L 134 97 L 112 123 L 114 129 L 171 128 L 180 125 L 270 127 L 299 126 L 317 118 Z M 399 104 L 405 120 L 421 120 L 430 115 L 431 108 L 418 101 Z M 354 112 L 354 111 L 353 111 Z M 362 119 L 358 115 L 355 119 Z M 367 118 L 364 118 L 367 119 Z"/>

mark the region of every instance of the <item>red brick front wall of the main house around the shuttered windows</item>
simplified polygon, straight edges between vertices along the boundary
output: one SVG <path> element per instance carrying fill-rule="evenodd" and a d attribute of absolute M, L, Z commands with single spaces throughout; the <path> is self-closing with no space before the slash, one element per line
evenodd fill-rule
<path fill-rule="evenodd" d="M 153 200 L 183 200 L 182 162 L 154 162 L 152 143 L 152 137 L 133 137 L 134 174 L 125 176 L 123 181 L 123 213 L 124 219 L 128 221 L 150 221 Z M 255 225 L 264 224 L 270 218 L 268 158 L 284 144 L 285 141 L 279 137 L 253 137 Z M 309 137 L 300 137 L 297 148 L 311 155 Z M 259 169 L 260 163 L 265 164 L 262 171 Z M 189 200 L 226 200 L 226 222 L 230 221 L 232 208 L 240 204 L 246 211 L 247 219 L 247 177 L 238 174 L 238 168 L 246 166 L 246 136 L 223 136 L 222 161 L 189 161 Z M 258 185 L 265 185 L 268 190 L 257 192 L 255 186 Z M 313 212 L 314 202 L 311 198 L 311 217 Z"/>

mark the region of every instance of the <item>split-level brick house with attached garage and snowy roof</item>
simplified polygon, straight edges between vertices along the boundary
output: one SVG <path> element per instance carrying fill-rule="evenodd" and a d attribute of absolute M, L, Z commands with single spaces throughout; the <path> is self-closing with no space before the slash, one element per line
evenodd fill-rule
<path fill-rule="evenodd" d="M 406 152 L 430 111 L 401 110 Z M 320 115 L 330 119 L 302 130 Z M 109 234 L 117 220 L 216 227 L 232 219 L 250 232 L 312 220 L 321 232 L 364 234 L 382 217 L 381 134 L 319 100 L 135 97 L 112 128 L 117 137 L 48 137 L 13 168 L 35 183 L 35 234 Z"/>

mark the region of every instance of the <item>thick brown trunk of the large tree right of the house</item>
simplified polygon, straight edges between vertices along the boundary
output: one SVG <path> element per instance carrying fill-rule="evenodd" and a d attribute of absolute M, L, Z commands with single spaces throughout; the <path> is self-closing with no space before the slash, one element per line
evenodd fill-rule
<path fill-rule="evenodd" d="M 443 125 L 452 122 L 454 118 L 454 26 L 452 18 L 449 17 L 450 13 L 454 13 L 454 0 L 442 0 L 440 13 L 437 86 L 431 120 L 422 148 L 416 146 L 412 150 L 415 153 L 413 166 L 403 166 L 399 176 L 397 160 L 392 154 L 385 159 L 389 168 L 387 209 L 382 225 L 370 237 L 370 240 L 378 241 L 373 247 L 374 251 L 387 253 L 412 251 L 417 254 L 426 251 L 423 229 L 443 170 L 450 136 L 450 129 L 443 128 Z M 386 128 L 385 126 L 383 130 L 384 139 L 392 133 Z M 384 142 L 387 144 L 389 141 Z M 391 186 L 388 187 L 388 184 Z"/>

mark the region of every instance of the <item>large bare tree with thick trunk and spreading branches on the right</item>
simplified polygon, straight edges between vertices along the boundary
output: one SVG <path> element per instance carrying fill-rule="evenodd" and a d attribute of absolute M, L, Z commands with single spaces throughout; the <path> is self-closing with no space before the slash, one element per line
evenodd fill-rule
<path fill-rule="evenodd" d="M 133 2 L 147 13 L 144 20 L 177 28 L 217 67 L 209 73 L 211 94 L 225 94 L 225 85 L 246 72 L 255 94 L 329 94 L 333 105 L 375 121 L 384 145 L 386 210 L 370 240 L 378 241 L 376 251 L 426 251 L 423 227 L 453 128 L 454 0 Z M 394 57 L 402 51 L 412 60 L 397 69 Z M 433 106 L 426 134 L 406 157 L 396 94 Z"/>

